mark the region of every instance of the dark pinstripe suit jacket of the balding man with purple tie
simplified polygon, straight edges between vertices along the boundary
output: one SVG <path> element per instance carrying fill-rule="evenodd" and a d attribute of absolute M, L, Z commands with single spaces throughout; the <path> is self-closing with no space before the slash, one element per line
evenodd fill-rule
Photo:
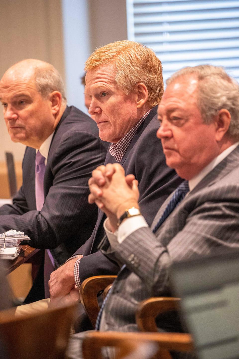
<path fill-rule="evenodd" d="M 23 185 L 13 205 L 0 208 L 0 233 L 11 228 L 27 234 L 35 248 L 50 248 L 56 266 L 63 264 L 92 233 L 97 208 L 89 205 L 87 181 L 104 163 L 108 143 L 96 123 L 77 108 L 67 107 L 54 132 L 44 175 L 45 202 L 35 203 L 35 149 L 23 159 Z"/>

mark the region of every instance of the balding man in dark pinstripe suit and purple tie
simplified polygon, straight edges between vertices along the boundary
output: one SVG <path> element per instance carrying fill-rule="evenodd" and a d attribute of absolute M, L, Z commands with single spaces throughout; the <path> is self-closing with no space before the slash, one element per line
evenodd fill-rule
<path fill-rule="evenodd" d="M 27 302 L 48 297 L 49 267 L 62 265 L 90 237 L 96 206 L 87 202 L 91 171 L 104 163 L 107 143 L 94 121 L 66 104 L 58 71 L 39 60 L 23 60 L 0 81 L 0 100 L 13 142 L 27 146 L 23 185 L 13 205 L 0 208 L 0 233 L 11 228 L 47 249 Z M 48 267 L 48 270 L 46 269 Z"/>

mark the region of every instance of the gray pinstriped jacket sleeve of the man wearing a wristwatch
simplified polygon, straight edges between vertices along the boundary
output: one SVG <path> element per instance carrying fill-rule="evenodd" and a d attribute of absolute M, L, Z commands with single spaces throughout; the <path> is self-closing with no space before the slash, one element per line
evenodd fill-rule
<path fill-rule="evenodd" d="M 239 233 L 236 231 L 239 208 L 232 198 L 237 197 L 239 187 L 236 185 L 230 188 L 231 196 L 223 187 L 215 189 L 221 198 L 206 200 L 205 196 L 199 200 L 196 197 L 187 209 L 185 206 L 180 210 L 182 218 L 182 212 L 185 215 L 182 228 L 167 244 L 163 243 L 162 236 L 159 240 L 150 228 L 139 228 L 118 244 L 115 252 L 111 252 L 109 242 L 105 240 L 101 247 L 103 253 L 109 255 L 111 260 L 126 264 L 142 280 L 150 296 L 169 292 L 172 262 L 189 260 L 199 255 L 214 255 L 216 251 L 226 248 L 239 249 Z M 175 214 L 174 221 L 170 217 L 162 228 L 165 235 L 179 218 L 178 214 Z"/>

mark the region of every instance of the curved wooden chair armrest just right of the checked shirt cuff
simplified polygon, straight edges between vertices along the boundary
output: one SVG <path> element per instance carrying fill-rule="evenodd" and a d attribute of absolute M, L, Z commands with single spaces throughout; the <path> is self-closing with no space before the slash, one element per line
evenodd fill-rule
<path fill-rule="evenodd" d="M 85 279 L 81 284 L 81 303 L 85 308 L 93 327 L 95 327 L 97 315 L 100 310 L 97 302 L 97 294 L 101 290 L 104 290 L 107 285 L 113 283 L 115 278 L 117 278 L 116 275 L 98 275 Z"/>

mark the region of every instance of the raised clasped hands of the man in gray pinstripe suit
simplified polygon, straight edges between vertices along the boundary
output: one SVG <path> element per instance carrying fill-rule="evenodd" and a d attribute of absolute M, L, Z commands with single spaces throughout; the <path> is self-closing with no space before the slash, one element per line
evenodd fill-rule
<path fill-rule="evenodd" d="M 118 220 L 125 209 L 139 208 L 138 181 L 133 174 L 125 176 L 124 168 L 118 163 L 97 167 L 88 185 L 88 202 L 95 203 L 107 215 L 112 232 L 118 228 Z"/>

